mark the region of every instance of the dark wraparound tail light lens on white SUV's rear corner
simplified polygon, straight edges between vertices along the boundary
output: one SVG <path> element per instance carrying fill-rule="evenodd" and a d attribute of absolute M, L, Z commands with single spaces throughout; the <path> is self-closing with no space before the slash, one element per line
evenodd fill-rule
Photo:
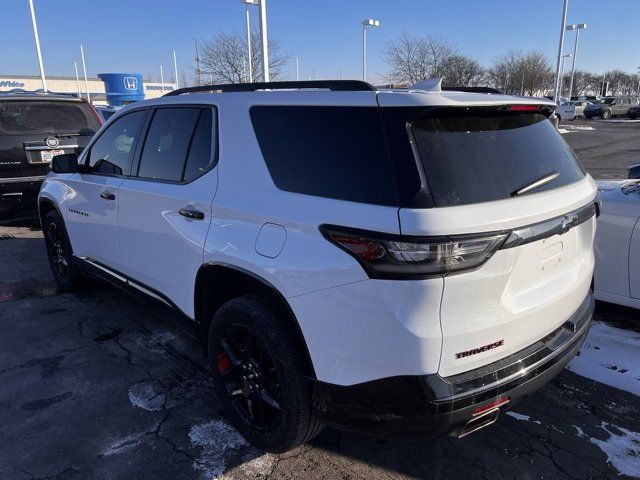
<path fill-rule="evenodd" d="M 428 278 L 484 264 L 508 232 L 479 236 L 406 237 L 323 225 L 329 241 L 351 254 L 371 278 Z"/>

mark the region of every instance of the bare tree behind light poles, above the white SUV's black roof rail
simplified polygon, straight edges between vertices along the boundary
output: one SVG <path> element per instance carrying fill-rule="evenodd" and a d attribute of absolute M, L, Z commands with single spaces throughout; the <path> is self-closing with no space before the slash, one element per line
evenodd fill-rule
<path fill-rule="evenodd" d="M 200 69 L 205 79 L 214 82 L 244 83 L 249 81 L 246 36 L 232 32 L 219 32 L 213 39 L 201 43 Z M 253 80 L 262 81 L 262 49 L 259 35 L 251 33 Z M 278 80 L 287 57 L 280 53 L 276 39 L 269 39 L 269 76 Z"/>

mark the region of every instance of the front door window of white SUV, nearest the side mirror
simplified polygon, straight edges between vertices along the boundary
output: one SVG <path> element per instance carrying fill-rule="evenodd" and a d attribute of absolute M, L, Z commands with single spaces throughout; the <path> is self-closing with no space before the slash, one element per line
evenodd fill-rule
<path fill-rule="evenodd" d="M 104 175 L 128 175 L 146 110 L 128 113 L 107 128 L 91 147 L 89 171 Z"/>

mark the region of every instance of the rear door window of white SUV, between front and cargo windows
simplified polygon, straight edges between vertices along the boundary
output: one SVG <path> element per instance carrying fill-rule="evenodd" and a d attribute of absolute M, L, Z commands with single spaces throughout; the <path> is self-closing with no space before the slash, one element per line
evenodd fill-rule
<path fill-rule="evenodd" d="M 156 110 L 144 142 L 138 176 L 173 182 L 199 177 L 214 158 L 211 132 L 211 109 Z"/>

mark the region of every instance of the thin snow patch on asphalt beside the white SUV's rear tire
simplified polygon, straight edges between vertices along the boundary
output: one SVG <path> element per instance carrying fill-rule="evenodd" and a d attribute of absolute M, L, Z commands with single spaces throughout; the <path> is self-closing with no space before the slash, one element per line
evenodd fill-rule
<path fill-rule="evenodd" d="M 199 458 L 193 463 L 193 468 L 203 472 L 207 479 L 224 478 L 227 459 L 238 458 L 241 449 L 249 450 L 241 457 L 241 463 L 236 467 L 245 476 L 267 475 L 273 468 L 273 456 L 257 454 L 242 435 L 221 420 L 212 420 L 193 426 L 189 431 L 189 439 L 192 445 L 202 447 Z"/>

